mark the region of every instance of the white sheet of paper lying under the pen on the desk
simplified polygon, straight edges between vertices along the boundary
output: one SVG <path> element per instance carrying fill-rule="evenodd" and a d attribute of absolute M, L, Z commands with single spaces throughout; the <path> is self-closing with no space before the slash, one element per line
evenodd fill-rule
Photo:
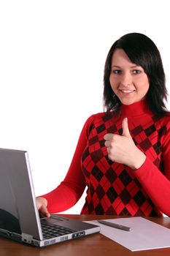
<path fill-rule="evenodd" d="M 102 225 L 96 221 L 88 222 L 100 226 L 100 233 L 102 235 L 107 236 L 122 246 L 125 246 L 132 252 L 142 251 L 145 249 L 170 247 L 170 229 L 167 227 L 163 227 L 142 217 L 105 220 L 132 227 L 132 230 L 124 231 Z"/>

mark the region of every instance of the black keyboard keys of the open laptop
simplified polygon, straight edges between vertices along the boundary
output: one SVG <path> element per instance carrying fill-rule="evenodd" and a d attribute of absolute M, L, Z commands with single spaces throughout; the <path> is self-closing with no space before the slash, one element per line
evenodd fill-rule
<path fill-rule="evenodd" d="M 47 222 L 41 222 L 42 235 L 44 238 L 54 238 L 57 236 L 64 236 L 69 233 L 74 233 L 76 230 L 69 229 L 68 227 L 61 227 Z"/>

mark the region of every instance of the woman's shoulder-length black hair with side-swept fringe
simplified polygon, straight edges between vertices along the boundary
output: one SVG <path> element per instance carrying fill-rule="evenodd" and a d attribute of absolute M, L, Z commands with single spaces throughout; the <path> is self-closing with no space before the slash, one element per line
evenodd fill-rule
<path fill-rule="evenodd" d="M 149 37 L 139 33 L 125 34 L 109 50 L 104 66 L 103 99 L 106 110 L 120 113 L 120 99 L 112 91 L 109 83 L 112 55 L 117 48 L 123 49 L 133 63 L 144 69 L 150 81 L 150 88 L 146 95 L 149 108 L 155 115 L 164 115 L 167 111 L 164 103 L 164 100 L 167 100 L 167 90 L 161 55 L 155 43 Z"/>

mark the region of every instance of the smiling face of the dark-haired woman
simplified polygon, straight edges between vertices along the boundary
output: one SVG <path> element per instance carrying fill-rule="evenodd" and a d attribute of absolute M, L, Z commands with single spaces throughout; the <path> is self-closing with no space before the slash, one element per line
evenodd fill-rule
<path fill-rule="evenodd" d="M 117 49 L 113 53 L 109 82 L 124 105 L 131 105 L 144 99 L 150 87 L 144 69 L 132 63 L 122 49 Z"/>

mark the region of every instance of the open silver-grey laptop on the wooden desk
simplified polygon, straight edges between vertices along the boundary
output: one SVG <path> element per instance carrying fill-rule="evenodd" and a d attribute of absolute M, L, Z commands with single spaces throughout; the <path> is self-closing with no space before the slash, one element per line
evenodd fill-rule
<path fill-rule="evenodd" d="M 28 152 L 0 148 L 0 236 L 33 246 L 48 246 L 98 233 L 100 227 L 36 208 Z"/>

